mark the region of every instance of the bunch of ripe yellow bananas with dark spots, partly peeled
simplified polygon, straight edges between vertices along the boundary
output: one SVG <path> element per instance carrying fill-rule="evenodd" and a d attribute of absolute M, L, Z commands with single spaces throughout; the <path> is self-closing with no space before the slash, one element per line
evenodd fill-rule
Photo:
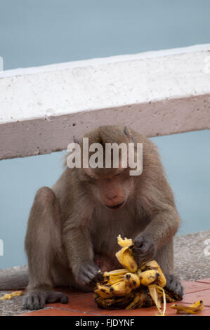
<path fill-rule="evenodd" d="M 155 260 L 138 268 L 133 258 L 132 239 L 117 237 L 122 246 L 116 253 L 123 269 L 103 273 L 103 282 L 98 283 L 94 299 L 100 308 L 133 309 L 157 305 L 160 315 L 164 315 L 166 302 L 173 302 L 176 297 L 165 292 L 166 278 Z M 164 310 L 161 304 L 164 301 Z"/>

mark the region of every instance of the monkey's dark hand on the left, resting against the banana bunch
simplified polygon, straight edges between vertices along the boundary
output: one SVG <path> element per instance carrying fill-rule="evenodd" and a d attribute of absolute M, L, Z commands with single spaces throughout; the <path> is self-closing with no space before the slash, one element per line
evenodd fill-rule
<path fill-rule="evenodd" d="M 92 260 L 86 260 L 79 266 L 75 279 L 79 285 L 93 288 L 103 280 L 103 272 Z"/>

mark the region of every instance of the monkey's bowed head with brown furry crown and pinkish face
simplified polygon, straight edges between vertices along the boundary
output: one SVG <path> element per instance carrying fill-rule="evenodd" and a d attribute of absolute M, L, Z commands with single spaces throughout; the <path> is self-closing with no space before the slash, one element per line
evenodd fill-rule
<path fill-rule="evenodd" d="M 128 157 L 128 148 L 126 154 L 119 149 L 117 163 L 118 166 L 114 165 L 114 152 L 111 150 L 110 153 L 106 153 L 105 148 L 107 144 L 115 143 L 117 146 L 121 143 L 128 145 L 133 143 L 133 138 L 131 133 L 125 127 L 119 128 L 118 126 L 102 126 L 91 134 L 87 134 L 84 137 L 88 137 L 88 147 L 93 145 L 93 143 L 98 143 L 101 146 L 103 167 L 89 166 L 87 169 L 83 168 L 80 171 L 81 180 L 88 183 L 88 190 L 91 192 L 95 199 L 98 199 L 105 207 L 108 209 L 119 209 L 126 204 L 129 194 L 133 192 L 134 182 L 133 176 L 129 175 L 129 167 L 122 166 L 122 163 Z M 82 145 L 83 142 L 80 143 Z M 91 157 L 94 161 L 99 161 L 99 154 L 96 154 L 94 149 L 96 145 L 93 146 L 93 150 L 89 150 L 88 157 L 91 163 Z M 106 157 L 109 157 L 107 159 Z M 93 159 L 92 159 L 93 160 Z M 107 163 L 110 164 L 107 167 Z M 115 158 L 116 161 L 116 158 Z M 83 162 L 82 162 L 83 164 Z"/>

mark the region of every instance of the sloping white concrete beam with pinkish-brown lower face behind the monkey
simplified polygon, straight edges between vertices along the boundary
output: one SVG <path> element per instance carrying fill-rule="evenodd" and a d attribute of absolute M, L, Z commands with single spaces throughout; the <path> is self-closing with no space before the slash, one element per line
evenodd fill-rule
<path fill-rule="evenodd" d="M 210 44 L 0 73 L 0 159 L 63 150 L 103 124 L 210 128 Z"/>

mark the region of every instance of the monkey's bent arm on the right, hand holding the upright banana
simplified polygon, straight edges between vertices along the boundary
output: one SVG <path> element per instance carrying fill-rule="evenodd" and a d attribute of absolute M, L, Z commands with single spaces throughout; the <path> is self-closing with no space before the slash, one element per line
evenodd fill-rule
<path fill-rule="evenodd" d="M 162 190 L 157 185 L 151 185 L 150 189 L 145 190 L 144 201 L 150 207 L 145 209 L 148 225 L 134 240 L 136 254 L 139 263 L 152 260 L 157 252 L 164 248 L 173 238 L 181 222 L 178 211 L 173 200 L 173 192 L 162 177 Z M 148 211 L 150 209 L 150 211 Z"/>

